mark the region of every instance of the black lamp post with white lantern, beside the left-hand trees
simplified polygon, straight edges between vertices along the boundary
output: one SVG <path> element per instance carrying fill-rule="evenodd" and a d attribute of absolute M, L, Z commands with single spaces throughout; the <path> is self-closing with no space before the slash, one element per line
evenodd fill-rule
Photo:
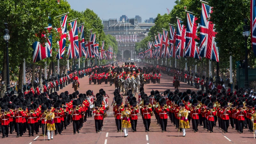
<path fill-rule="evenodd" d="M 7 85 L 6 85 L 6 91 L 10 92 L 10 74 L 9 74 L 9 48 L 8 48 L 8 44 L 9 44 L 9 39 L 10 39 L 10 35 L 9 35 L 9 30 L 7 29 L 7 23 L 4 23 L 5 29 L 4 29 L 4 41 L 6 43 L 6 76 L 7 76 Z"/>

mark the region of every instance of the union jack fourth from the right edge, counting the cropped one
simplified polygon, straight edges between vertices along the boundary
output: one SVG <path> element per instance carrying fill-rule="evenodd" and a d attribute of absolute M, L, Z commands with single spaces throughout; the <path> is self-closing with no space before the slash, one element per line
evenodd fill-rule
<path fill-rule="evenodd" d="M 186 36 L 186 28 L 182 24 L 183 21 L 177 19 L 177 32 L 176 32 L 176 55 L 180 57 L 186 58 L 184 55 L 184 48 L 185 48 L 185 36 Z"/>

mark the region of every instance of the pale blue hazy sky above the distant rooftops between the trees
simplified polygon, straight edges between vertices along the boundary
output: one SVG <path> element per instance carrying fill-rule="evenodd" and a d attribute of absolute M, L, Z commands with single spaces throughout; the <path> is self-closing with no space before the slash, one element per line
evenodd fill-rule
<path fill-rule="evenodd" d="M 93 10 L 100 19 L 108 20 L 127 15 L 135 18 L 139 15 L 142 22 L 149 18 L 156 18 L 157 14 L 167 13 L 174 6 L 175 0 L 67 0 L 71 8 L 76 11 L 84 11 L 86 8 Z"/>

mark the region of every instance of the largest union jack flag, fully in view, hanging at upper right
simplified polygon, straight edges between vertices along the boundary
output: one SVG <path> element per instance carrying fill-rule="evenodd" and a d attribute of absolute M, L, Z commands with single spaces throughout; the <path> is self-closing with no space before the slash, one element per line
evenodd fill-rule
<path fill-rule="evenodd" d="M 212 7 L 202 3 L 200 24 L 200 56 L 219 62 L 219 51 L 215 42 L 214 24 L 209 21 Z"/>

